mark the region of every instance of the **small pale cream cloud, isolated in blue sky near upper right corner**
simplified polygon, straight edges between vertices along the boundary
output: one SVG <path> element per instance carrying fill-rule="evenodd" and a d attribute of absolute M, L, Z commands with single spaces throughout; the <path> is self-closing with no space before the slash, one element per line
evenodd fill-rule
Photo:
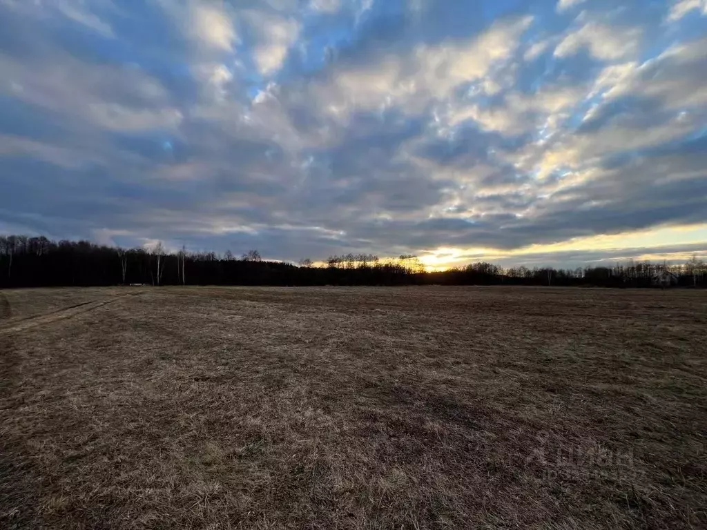
<path fill-rule="evenodd" d="M 612 28 L 590 22 L 566 35 L 555 48 L 555 56 L 573 55 L 585 47 L 597 59 L 627 59 L 638 54 L 641 35 L 638 28 Z"/>

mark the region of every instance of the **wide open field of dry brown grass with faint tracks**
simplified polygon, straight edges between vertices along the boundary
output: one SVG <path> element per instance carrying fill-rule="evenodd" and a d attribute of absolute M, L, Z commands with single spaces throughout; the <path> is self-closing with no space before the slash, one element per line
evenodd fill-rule
<path fill-rule="evenodd" d="M 705 528 L 707 293 L 0 292 L 2 528 Z"/>

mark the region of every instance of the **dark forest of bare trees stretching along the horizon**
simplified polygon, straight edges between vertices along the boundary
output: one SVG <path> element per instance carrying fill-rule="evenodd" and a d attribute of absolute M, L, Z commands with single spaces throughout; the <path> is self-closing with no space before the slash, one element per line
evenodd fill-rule
<path fill-rule="evenodd" d="M 426 272 L 415 256 L 379 259 L 369 254 L 332 256 L 323 266 L 265 261 L 257 250 L 167 252 L 120 249 L 88 241 L 0 237 L 0 288 L 60 285 L 587 285 L 597 287 L 707 286 L 707 266 L 631 263 L 578 269 L 503 269 L 489 263 Z"/>

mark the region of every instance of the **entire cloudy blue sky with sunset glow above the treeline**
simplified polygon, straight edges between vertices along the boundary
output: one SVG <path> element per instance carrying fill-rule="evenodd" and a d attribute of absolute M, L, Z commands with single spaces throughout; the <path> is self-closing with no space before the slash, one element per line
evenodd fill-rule
<path fill-rule="evenodd" d="M 707 256 L 707 0 L 0 0 L 0 232 Z"/>

